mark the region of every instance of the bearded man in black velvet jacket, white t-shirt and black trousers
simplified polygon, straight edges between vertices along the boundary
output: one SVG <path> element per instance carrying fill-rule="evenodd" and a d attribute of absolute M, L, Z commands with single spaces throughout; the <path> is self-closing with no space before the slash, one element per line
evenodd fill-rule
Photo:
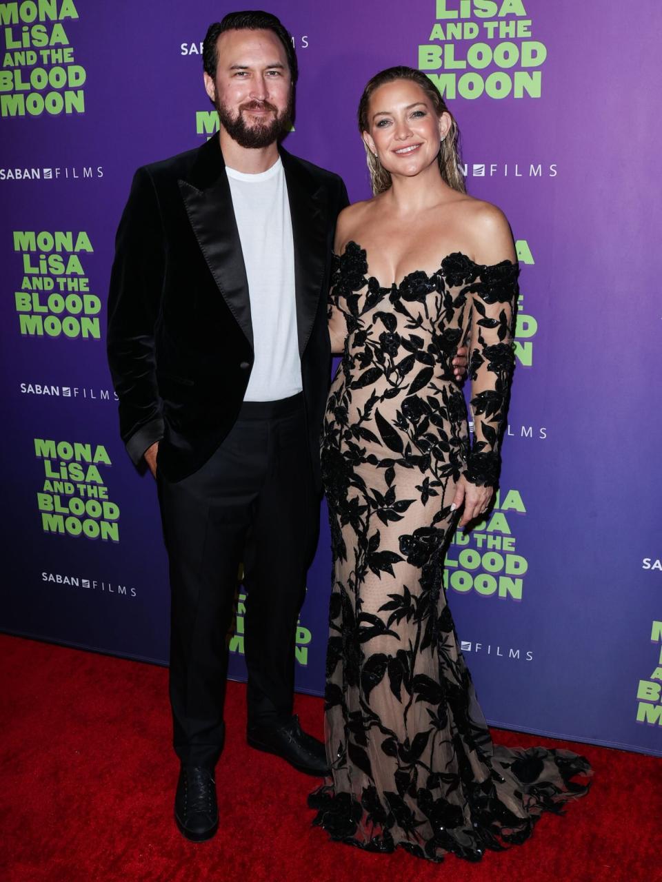
<path fill-rule="evenodd" d="M 324 745 L 292 715 L 294 646 L 317 542 L 327 288 L 340 177 L 279 146 L 297 58 L 266 12 L 209 27 L 218 138 L 139 168 L 117 231 L 108 351 L 132 460 L 157 479 L 171 587 L 179 830 L 218 827 L 226 635 L 247 602 L 247 740 L 300 771 Z"/>

